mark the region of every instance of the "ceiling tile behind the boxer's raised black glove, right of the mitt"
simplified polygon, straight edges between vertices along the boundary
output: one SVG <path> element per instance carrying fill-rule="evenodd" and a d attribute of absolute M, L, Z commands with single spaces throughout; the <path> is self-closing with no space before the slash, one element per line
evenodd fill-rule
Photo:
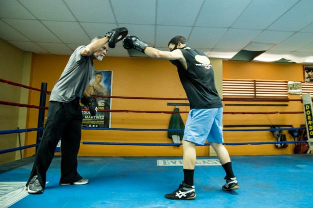
<path fill-rule="evenodd" d="M 148 45 L 155 46 L 155 28 L 154 25 L 143 24 L 121 24 L 122 27 L 128 29 L 128 35 L 135 35 L 141 41 Z"/>

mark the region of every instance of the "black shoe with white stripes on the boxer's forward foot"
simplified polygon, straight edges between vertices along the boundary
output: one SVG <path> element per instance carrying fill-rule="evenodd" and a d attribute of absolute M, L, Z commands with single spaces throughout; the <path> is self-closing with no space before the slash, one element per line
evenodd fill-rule
<path fill-rule="evenodd" d="M 194 186 L 189 186 L 183 182 L 178 189 L 171 194 L 166 194 L 164 197 L 169 200 L 193 200 L 196 199 Z"/>

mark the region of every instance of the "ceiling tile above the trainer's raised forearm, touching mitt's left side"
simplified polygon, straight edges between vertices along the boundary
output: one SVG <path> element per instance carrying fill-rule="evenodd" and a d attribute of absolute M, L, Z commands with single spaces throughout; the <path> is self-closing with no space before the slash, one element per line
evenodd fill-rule
<path fill-rule="evenodd" d="M 91 39 L 96 37 L 96 36 L 105 36 L 105 34 L 107 32 L 118 27 L 117 24 L 115 24 L 115 23 L 86 23 L 86 22 L 81 22 L 81 25 Z"/>

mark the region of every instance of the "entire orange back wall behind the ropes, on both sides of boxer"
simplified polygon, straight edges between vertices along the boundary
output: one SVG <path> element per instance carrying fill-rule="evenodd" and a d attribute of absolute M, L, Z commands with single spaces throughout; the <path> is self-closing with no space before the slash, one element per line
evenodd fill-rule
<path fill-rule="evenodd" d="M 31 86 L 40 88 L 41 82 L 48 83 L 52 90 L 60 77 L 69 56 L 34 54 Z M 131 97 L 172 97 L 186 98 L 176 68 L 166 60 L 152 58 L 105 57 L 102 62 L 95 61 L 96 70 L 113 71 L 113 96 Z M 213 65 L 214 68 L 214 65 Z M 302 81 L 302 65 L 276 64 L 258 62 L 223 61 L 223 78 L 231 79 L 275 79 Z M 219 84 L 219 83 L 217 83 Z M 40 93 L 32 91 L 29 104 L 38 105 Z M 49 98 L 49 97 L 48 97 Z M 298 99 L 298 97 L 294 98 Z M 174 106 L 168 102 L 184 102 L 173 100 L 135 100 L 112 99 L 113 110 L 148 110 L 172 111 Z M 225 104 L 226 102 L 224 102 Z M 48 105 L 48 102 L 47 102 Z M 300 103 L 289 102 L 290 107 L 225 107 L 225 112 L 235 111 L 301 111 Z M 180 106 L 180 111 L 189 111 L 189 107 Z M 274 109 L 273 109 L 274 108 Z M 47 111 L 46 111 L 47 113 Z M 28 127 L 37 127 L 38 110 L 29 109 Z M 151 113 L 112 113 L 112 128 L 168 128 L 171 114 Z M 186 121 L 187 114 L 181 114 Z M 235 124 L 292 124 L 295 127 L 304 123 L 303 115 L 224 115 L 224 125 Z M 290 138 L 288 138 L 290 140 Z M 243 133 L 225 132 L 225 142 L 275 141 L 270 132 Z M 164 131 L 101 131 L 82 130 L 82 142 L 138 142 L 138 143 L 171 143 Z M 36 133 L 27 134 L 27 143 L 36 142 Z M 266 155 L 291 154 L 292 145 L 287 149 L 277 150 L 274 145 L 258 146 L 226 146 L 230 155 Z M 35 153 L 35 148 L 28 149 L 26 156 Z M 160 146 L 107 146 L 81 145 L 81 156 L 181 156 L 182 147 Z M 198 156 L 209 155 L 209 148 L 197 147 Z"/>

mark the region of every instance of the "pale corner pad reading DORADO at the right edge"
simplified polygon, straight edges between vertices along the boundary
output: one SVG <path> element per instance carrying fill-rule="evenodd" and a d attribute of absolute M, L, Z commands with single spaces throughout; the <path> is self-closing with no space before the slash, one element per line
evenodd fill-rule
<path fill-rule="evenodd" d="M 302 94 L 303 110 L 306 123 L 307 142 L 309 150 L 313 151 L 313 107 L 311 93 Z M 308 151 L 309 152 L 309 151 Z"/>

